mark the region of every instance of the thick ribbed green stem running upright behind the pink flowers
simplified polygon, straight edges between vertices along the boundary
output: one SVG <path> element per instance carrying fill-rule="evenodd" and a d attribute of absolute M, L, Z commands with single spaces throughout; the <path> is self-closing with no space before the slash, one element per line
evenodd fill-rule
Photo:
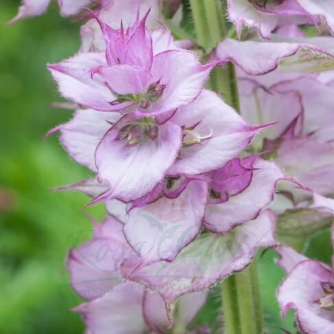
<path fill-rule="evenodd" d="M 190 0 L 197 43 L 209 54 L 231 34 L 226 27 L 224 0 Z M 240 113 L 238 85 L 234 65 L 229 63 L 212 71 L 210 89 Z M 258 334 L 263 332 L 263 309 L 260 302 L 256 263 L 230 276 L 221 284 L 225 334 Z"/>

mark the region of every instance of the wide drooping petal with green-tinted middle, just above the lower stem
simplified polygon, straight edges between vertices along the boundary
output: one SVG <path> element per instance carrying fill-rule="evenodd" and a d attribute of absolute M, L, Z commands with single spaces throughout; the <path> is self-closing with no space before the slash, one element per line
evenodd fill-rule
<path fill-rule="evenodd" d="M 275 244 L 274 224 L 274 214 L 266 211 L 232 232 L 201 235 L 171 263 L 161 261 L 134 271 L 132 262 L 126 261 L 122 272 L 159 291 L 169 309 L 183 293 L 205 290 L 245 269 L 258 247 Z"/>

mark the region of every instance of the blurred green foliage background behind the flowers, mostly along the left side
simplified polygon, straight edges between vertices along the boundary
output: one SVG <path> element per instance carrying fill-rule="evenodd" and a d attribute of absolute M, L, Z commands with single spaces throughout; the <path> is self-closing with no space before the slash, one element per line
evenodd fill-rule
<path fill-rule="evenodd" d="M 57 135 L 43 140 L 71 117 L 50 107 L 60 98 L 45 65 L 78 50 L 80 24 L 61 18 L 53 4 L 43 16 L 5 26 L 19 3 L 0 3 L 0 333 L 82 333 L 80 316 L 69 311 L 80 298 L 68 285 L 65 258 L 91 234 L 85 213 L 101 220 L 103 210 L 85 209 L 82 194 L 49 191 L 89 172 L 71 161 Z M 315 247 L 324 239 L 330 245 L 324 234 Z M 330 252 L 329 246 L 316 256 L 328 259 Z M 267 252 L 258 259 L 270 334 L 293 331 L 291 314 L 280 320 L 274 294 L 283 274 L 273 257 Z M 214 318 L 214 293 L 201 322 Z"/>

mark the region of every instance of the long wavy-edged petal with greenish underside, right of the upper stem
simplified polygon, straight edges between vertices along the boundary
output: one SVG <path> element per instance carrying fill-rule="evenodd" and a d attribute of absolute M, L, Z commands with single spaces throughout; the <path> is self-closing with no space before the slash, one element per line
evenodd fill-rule
<path fill-rule="evenodd" d="M 331 37 L 274 36 L 270 42 L 227 38 L 216 48 L 216 57 L 223 63 L 231 61 L 251 75 L 266 74 L 277 68 L 289 72 L 318 72 L 334 69 L 334 41 Z"/>

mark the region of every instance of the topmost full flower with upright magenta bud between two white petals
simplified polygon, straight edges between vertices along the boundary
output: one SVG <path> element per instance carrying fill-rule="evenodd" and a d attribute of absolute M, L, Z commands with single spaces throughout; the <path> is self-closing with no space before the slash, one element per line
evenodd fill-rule
<path fill-rule="evenodd" d="M 49 65 L 62 95 L 96 110 L 140 117 L 170 112 L 192 102 L 215 63 L 202 66 L 192 52 L 155 48 L 145 27 L 146 16 L 142 20 L 137 17 L 126 30 L 114 30 L 99 21 L 105 55 L 81 53 Z"/>

